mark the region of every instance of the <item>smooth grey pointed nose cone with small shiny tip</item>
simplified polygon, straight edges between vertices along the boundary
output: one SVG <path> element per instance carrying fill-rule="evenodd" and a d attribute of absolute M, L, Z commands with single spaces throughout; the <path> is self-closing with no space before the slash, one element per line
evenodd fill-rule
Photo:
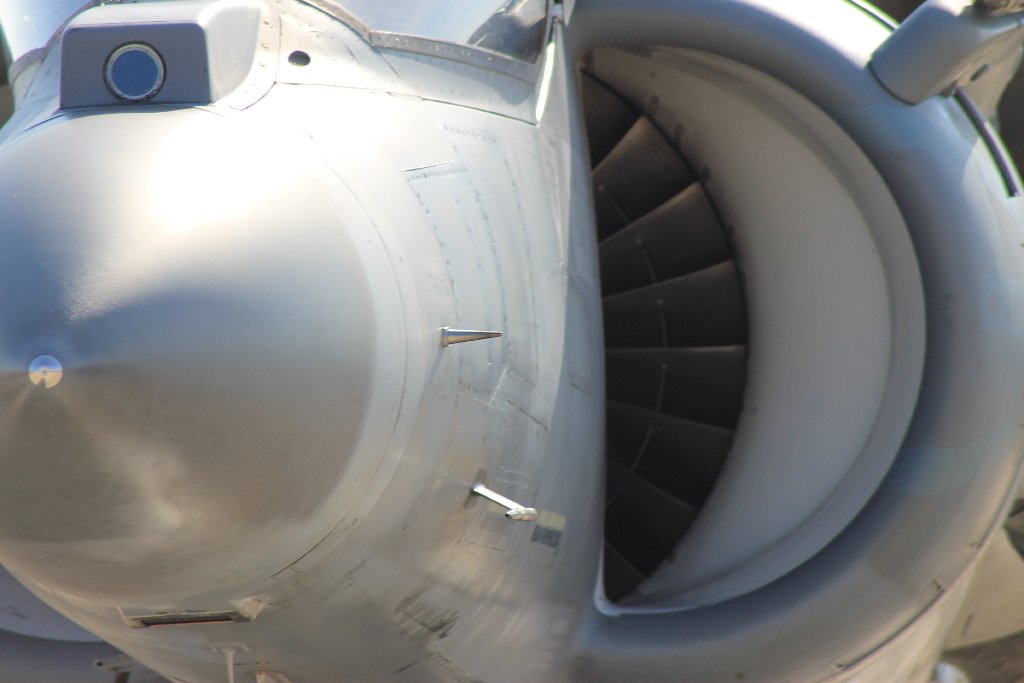
<path fill-rule="evenodd" d="M 338 522 L 378 316 L 333 183 L 198 111 L 0 151 L 0 561 L 123 604 L 269 577 Z"/>

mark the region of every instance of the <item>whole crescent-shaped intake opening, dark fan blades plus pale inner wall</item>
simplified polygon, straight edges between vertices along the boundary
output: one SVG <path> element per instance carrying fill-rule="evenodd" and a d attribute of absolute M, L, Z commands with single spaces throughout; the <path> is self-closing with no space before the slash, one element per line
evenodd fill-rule
<path fill-rule="evenodd" d="M 607 153 L 607 123 L 591 126 L 606 595 L 613 609 L 714 604 L 810 559 L 895 462 L 924 366 L 916 257 L 863 153 L 778 82 L 673 49 L 599 49 L 583 69 L 639 117 Z M 629 123 L 607 93 L 585 90 L 588 100 L 600 110 L 591 121 Z M 685 162 L 671 160 L 679 154 Z M 666 220 L 687 194 L 707 208 L 690 197 Z M 652 237 L 670 228 L 675 243 Z M 644 255 L 631 261 L 629 250 Z M 666 270 L 671 262 L 687 265 Z M 631 267 L 654 282 L 623 291 L 635 285 Z M 633 429 L 641 420 L 645 430 Z M 624 457 L 624 440 L 636 455 Z"/>

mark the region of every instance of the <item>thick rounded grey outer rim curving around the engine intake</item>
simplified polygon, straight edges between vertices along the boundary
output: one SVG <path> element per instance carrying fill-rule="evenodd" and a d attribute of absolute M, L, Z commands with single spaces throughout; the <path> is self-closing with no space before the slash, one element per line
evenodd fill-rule
<path fill-rule="evenodd" d="M 934 99 L 911 110 L 864 71 L 887 37 L 882 26 L 852 6 L 798 5 L 788 13 L 779 3 L 688 3 L 682 17 L 668 2 L 628 10 L 588 3 L 573 18 L 577 50 L 643 36 L 756 66 L 859 142 L 900 206 L 922 268 L 922 401 L 880 492 L 824 552 L 739 600 L 613 622 L 595 613 L 581 639 L 581 680 L 617 680 L 638 667 L 652 680 L 681 668 L 692 680 L 737 673 L 820 680 L 855 671 L 957 584 L 1013 490 L 1020 384 L 1007 374 L 1021 332 L 1014 322 L 1021 305 L 1019 206 L 1004 195 L 978 132 L 955 104 Z M 851 38 L 837 49 L 820 38 L 829 31 Z M 951 201 L 939 209 L 937 197 Z M 969 217 L 977 211 L 1006 222 L 979 240 L 979 222 Z M 658 654 L 648 656 L 651 650 Z"/>

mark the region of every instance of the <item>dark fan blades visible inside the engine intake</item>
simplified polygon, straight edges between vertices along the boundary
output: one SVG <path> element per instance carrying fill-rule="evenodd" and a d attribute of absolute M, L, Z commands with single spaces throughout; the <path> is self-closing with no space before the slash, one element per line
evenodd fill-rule
<path fill-rule="evenodd" d="M 604 581 L 618 600 L 715 485 L 742 404 L 746 313 L 700 180 L 644 112 L 582 78 L 606 349 Z"/>

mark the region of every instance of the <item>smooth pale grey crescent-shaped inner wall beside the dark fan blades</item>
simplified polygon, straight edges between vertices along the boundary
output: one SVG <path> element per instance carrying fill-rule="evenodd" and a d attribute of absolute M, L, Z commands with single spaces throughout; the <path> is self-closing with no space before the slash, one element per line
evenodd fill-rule
<path fill-rule="evenodd" d="M 695 52 L 598 50 L 587 65 L 685 131 L 743 264 L 752 353 L 732 450 L 631 604 L 721 602 L 817 553 L 892 466 L 920 398 L 921 274 L 884 181 L 799 94 Z"/>

